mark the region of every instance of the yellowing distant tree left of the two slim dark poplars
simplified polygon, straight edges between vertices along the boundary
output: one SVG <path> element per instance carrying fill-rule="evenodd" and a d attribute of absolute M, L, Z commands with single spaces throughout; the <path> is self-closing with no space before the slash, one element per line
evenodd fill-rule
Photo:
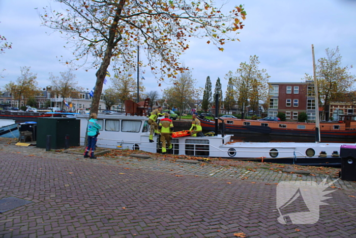
<path fill-rule="evenodd" d="M 194 101 L 195 80 L 193 80 L 190 71 L 185 71 L 176 79 L 172 79 L 171 83 L 173 86 L 163 91 L 163 97 L 170 108 L 172 105 L 175 105 L 180 108 L 182 112 L 188 102 Z"/>

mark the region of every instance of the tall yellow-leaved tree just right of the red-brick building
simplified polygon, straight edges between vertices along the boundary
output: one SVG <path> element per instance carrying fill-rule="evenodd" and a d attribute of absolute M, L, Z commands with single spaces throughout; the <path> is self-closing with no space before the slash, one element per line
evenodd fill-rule
<path fill-rule="evenodd" d="M 325 119 L 325 111 L 332 101 L 339 101 L 346 91 L 352 91 L 356 82 L 355 75 L 349 72 L 352 66 L 342 66 L 339 47 L 325 49 L 326 58 L 320 58 L 316 64 L 316 80 L 318 83 L 319 102 L 322 106 L 321 118 Z M 306 73 L 304 80 L 314 80 L 313 74 Z M 326 118 L 327 119 L 327 118 Z"/>

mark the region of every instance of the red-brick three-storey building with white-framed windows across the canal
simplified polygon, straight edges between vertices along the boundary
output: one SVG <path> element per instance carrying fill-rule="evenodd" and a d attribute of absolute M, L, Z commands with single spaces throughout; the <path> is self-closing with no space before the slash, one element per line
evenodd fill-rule
<path fill-rule="evenodd" d="M 315 93 L 312 81 L 305 83 L 269 83 L 270 106 L 268 116 L 276 117 L 279 112 L 286 121 L 297 121 L 298 115 L 307 113 L 308 121 L 315 121 Z"/>

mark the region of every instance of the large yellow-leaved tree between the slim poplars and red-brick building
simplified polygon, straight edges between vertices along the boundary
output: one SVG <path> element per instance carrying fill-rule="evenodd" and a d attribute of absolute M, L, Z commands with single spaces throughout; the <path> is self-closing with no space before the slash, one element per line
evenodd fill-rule
<path fill-rule="evenodd" d="M 245 106 L 250 105 L 253 111 L 257 111 L 259 100 L 266 100 L 268 97 L 270 76 L 265 69 L 258 68 L 259 63 L 257 56 L 250 56 L 250 62 L 241 63 L 235 75 L 231 72 L 228 74 L 238 88 L 238 103 L 241 108 L 245 103 Z"/>

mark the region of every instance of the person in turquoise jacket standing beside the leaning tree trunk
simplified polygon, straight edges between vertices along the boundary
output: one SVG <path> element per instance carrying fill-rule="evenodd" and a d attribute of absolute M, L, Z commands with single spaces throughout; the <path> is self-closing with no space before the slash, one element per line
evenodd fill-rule
<path fill-rule="evenodd" d="M 89 157 L 88 153 L 90 152 L 90 158 L 97 158 L 94 156 L 95 145 L 97 144 L 99 130 L 101 126 L 98 124 L 98 116 L 96 113 L 90 115 L 90 120 L 88 122 L 88 144 L 85 148 L 84 158 Z"/>

